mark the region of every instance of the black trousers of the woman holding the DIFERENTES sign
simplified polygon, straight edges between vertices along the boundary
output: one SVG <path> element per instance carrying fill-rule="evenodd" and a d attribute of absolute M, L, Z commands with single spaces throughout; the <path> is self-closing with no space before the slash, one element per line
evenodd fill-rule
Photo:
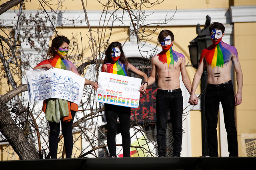
<path fill-rule="evenodd" d="M 116 157 L 116 124 L 119 117 L 120 133 L 122 136 L 123 157 L 130 157 L 130 116 L 131 108 L 105 104 L 105 114 L 108 126 L 107 143 L 109 156 Z"/>

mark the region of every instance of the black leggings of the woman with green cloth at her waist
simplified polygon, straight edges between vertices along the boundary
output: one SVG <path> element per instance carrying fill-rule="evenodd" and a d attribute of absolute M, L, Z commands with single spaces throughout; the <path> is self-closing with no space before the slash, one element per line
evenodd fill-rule
<path fill-rule="evenodd" d="M 73 150 L 73 135 L 72 135 L 72 125 L 74 121 L 76 111 L 71 110 L 71 115 L 73 119 L 69 122 L 64 122 L 63 117 L 60 118 L 61 121 L 61 131 L 64 137 L 64 147 L 66 158 L 71 158 L 72 150 Z M 50 135 L 49 135 L 49 150 L 51 154 L 51 158 L 57 158 L 57 150 L 58 150 L 58 138 L 60 135 L 60 122 L 52 122 L 48 121 L 50 126 Z"/>

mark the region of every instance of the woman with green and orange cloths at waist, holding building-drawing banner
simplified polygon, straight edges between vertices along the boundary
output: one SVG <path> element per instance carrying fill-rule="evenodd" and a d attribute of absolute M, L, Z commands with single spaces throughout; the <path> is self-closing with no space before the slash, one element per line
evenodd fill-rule
<path fill-rule="evenodd" d="M 48 70 L 55 67 L 64 70 L 70 70 L 80 75 L 76 70 L 76 66 L 71 61 L 65 59 L 68 53 L 69 43 L 70 41 L 65 36 L 55 37 L 52 40 L 52 45 L 47 52 L 47 56 L 52 58 L 42 61 L 33 69 L 46 68 Z M 85 84 L 91 85 L 94 89 L 98 88 L 97 82 L 92 82 L 86 78 Z M 64 137 L 66 158 L 71 158 L 73 149 L 72 125 L 76 111 L 78 111 L 78 105 L 62 99 L 47 99 L 44 100 L 42 110 L 46 114 L 46 120 L 48 120 L 50 126 L 49 150 L 51 158 L 57 158 L 60 122 L 62 126 L 62 134 Z M 62 115 L 66 116 L 61 117 Z M 60 117 L 60 120 L 57 120 L 55 117 Z"/>

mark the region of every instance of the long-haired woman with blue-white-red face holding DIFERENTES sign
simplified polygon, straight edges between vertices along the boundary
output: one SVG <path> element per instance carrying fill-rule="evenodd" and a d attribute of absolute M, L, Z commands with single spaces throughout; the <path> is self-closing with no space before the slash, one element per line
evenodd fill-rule
<path fill-rule="evenodd" d="M 127 76 L 127 71 L 130 70 L 144 78 L 144 83 L 140 87 L 140 92 L 146 92 L 148 84 L 148 76 L 128 63 L 122 45 L 119 42 L 112 42 L 105 51 L 104 64 L 102 65 L 102 72 L 109 72 L 112 74 L 119 74 Z M 130 157 L 130 115 L 131 108 L 124 106 L 116 106 L 112 104 L 105 104 L 105 115 L 108 126 L 107 143 L 109 156 L 116 157 L 116 124 L 117 116 L 120 122 L 120 131 L 122 135 L 123 157 Z"/>

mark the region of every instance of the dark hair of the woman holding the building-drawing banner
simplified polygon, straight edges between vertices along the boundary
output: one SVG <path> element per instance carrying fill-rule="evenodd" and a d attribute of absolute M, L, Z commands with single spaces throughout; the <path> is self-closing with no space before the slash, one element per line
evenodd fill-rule
<path fill-rule="evenodd" d="M 55 49 L 59 49 L 60 46 L 64 42 L 68 43 L 68 44 L 70 43 L 69 39 L 67 37 L 65 37 L 64 35 L 62 35 L 62 36 L 58 35 L 57 37 L 52 39 L 52 45 L 50 46 L 50 48 L 47 51 L 47 56 L 54 57 L 57 53 L 57 51 L 55 51 Z"/>

